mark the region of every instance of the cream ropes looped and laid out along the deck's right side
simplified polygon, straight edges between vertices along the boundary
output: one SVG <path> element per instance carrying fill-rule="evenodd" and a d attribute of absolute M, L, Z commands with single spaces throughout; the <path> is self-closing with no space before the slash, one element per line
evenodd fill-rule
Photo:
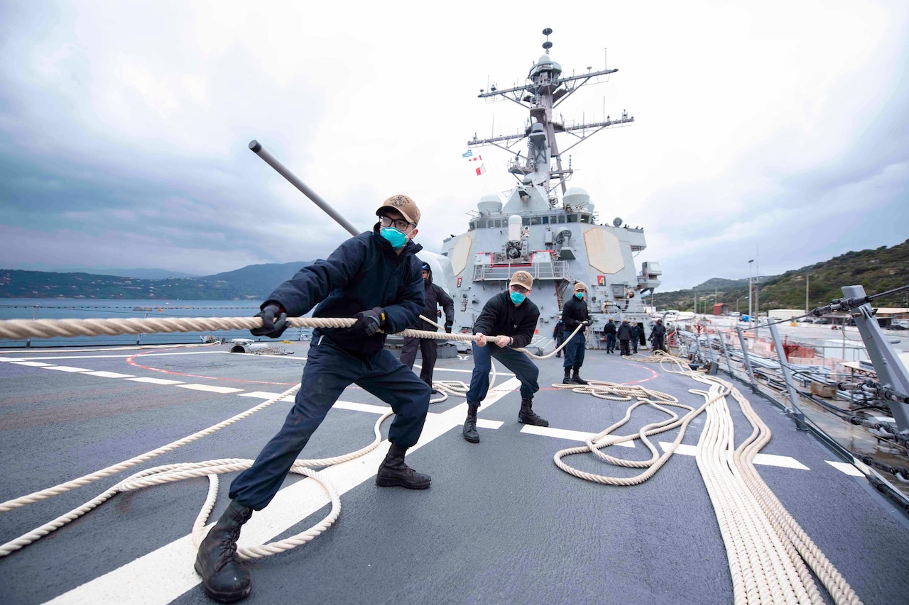
<path fill-rule="evenodd" d="M 824 589 L 838 605 L 861 603 L 842 574 L 827 560 L 754 470 L 754 456 L 770 441 L 771 432 L 742 393 L 731 382 L 703 372 L 693 372 L 688 368 L 686 360 L 662 351 L 646 357 L 625 358 L 638 362 L 658 362 L 667 372 L 683 374 L 703 383 L 707 387 L 705 390 L 692 389 L 690 392 L 704 397 L 704 404 L 695 410 L 679 403 L 671 395 L 639 385 L 599 381 L 591 381 L 586 386 L 556 384 L 555 387 L 613 401 L 637 400 L 629 406 L 621 421 L 588 439 L 583 447 L 557 451 L 554 455 L 556 466 L 586 481 L 617 486 L 642 483 L 650 479 L 673 454 L 684 438 L 689 422 L 706 412 L 704 431 L 697 444 L 695 459 L 714 505 L 723 537 L 732 576 L 734 603 L 824 603 L 812 573 L 821 580 Z M 734 422 L 727 402 L 729 396 L 738 402 L 745 418 L 752 425 L 749 437 L 735 449 Z M 647 424 L 636 434 L 612 434 L 628 422 L 635 408 L 642 405 L 649 405 L 670 418 Z M 681 407 L 688 412 L 680 419 L 665 406 Z M 647 438 L 676 427 L 680 427 L 678 436 L 660 456 Z M 626 461 L 601 451 L 610 445 L 635 439 L 640 439 L 651 452 L 650 460 Z M 597 458 L 608 463 L 627 468 L 645 468 L 646 471 L 634 477 L 611 477 L 579 471 L 563 461 L 566 456 L 587 452 L 594 453 Z"/>

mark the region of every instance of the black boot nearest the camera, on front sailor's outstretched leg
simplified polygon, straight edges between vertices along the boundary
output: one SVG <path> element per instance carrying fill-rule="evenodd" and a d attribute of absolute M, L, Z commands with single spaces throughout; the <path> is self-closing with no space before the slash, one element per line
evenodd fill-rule
<path fill-rule="evenodd" d="M 215 527 L 208 532 L 195 556 L 195 572 L 202 576 L 205 594 L 222 603 L 245 599 L 253 590 L 249 571 L 236 556 L 240 528 L 253 516 L 253 509 L 232 500 Z"/>

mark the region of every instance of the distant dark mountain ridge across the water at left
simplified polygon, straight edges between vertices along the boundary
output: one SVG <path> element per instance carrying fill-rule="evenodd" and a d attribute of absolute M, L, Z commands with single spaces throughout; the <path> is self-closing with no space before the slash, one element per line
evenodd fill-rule
<path fill-rule="evenodd" d="M 0 298 L 261 300 L 309 261 L 254 264 L 205 277 L 138 279 L 98 273 L 0 269 Z"/>

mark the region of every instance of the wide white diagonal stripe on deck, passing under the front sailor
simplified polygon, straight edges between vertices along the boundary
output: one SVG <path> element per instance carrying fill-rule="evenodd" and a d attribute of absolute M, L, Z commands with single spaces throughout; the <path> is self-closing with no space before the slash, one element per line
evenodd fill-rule
<path fill-rule="evenodd" d="M 501 399 L 507 392 L 519 388 L 521 382 L 513 378 L 504 382 L 502 388 L 490 393 L 484 400 L 484 407 Z M 440 414 L 429 414 L 420 435 L 420 441 L 410 449 L 415 451 L 426 443 L 434 441 L 464 423 L 467 403 L 454 406 Z M 460 436 L 457 437 L 460 439 Z M 336 464 L 321 474 L 335 486 L 342 496 L 364 481 L 375 476 L 375 470 L 388 451 L 388 441 L 365 456 Z M 376 488 L 378 489 L 378 488 Z M 200 498 L 203 498 L 200 491 Z M 305 479 L 278 491 L 265 511 L 257 512 L 246 523 L 240 544 L 250 546 L 270 541 L 287 528 L 303 521 L 328 503 L 328 496 L 315 481 Z M 225 502 L 218 502 L 213 517 L 221 514 Z M 341 521 L 344 522 L 344 521 Z M 201 581 L 193 570 L 195 548 L 192 536 L 170 542 L 149 552 L 143 557 L 126 563 L 119 569 L 85 582 L 73 590 L 61 594 L 49 603 L 98 603 L 120 602 L 124 599 L 124 587 L 129 587 L 130 603 L 169 603 L 187 590 L 192 590 Z"/>

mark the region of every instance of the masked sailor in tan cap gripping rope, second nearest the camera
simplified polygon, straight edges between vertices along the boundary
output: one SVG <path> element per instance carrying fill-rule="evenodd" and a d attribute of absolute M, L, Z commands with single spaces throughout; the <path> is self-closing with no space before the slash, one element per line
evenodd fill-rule
<path fill-rule="evenodd" d="M 470 377 L 470 390 L 467 391 L 467 420 L 462 431 L 466 441 L 480 442 L 480 435 L 476 431 L 476 412 L 489 391 L 489 371 L 492 369 L 493 357 L 514 372 L 515 378 L 521 381 L 518 422 L 549 426 L 549 422 L 537 416 L 533 410 L 534 393 L 540 390 L 540 385 L 536 382 L 540 370 L 523 352 L 514 351 L 530 343 L 534 338 L 536 322 L 540 319 L 540 310 L 527 298 L 533 289 L 534 278 L 530 273 L 515 272 L 508 290 L 486 301 L 474 323 L 474 332 L 479 339 L 473 344 L 474 373 Z M 489 342 L 488 347 L 486 334 L 496 337 L 494 342 Z"/>

